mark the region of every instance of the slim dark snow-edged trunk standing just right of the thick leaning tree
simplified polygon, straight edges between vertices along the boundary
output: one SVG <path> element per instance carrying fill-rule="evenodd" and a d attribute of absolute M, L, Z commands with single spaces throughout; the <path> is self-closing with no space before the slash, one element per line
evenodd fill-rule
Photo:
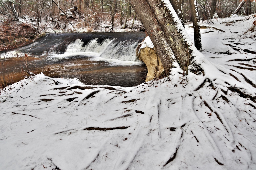
<path fill-rule="evenodd" d="M 201 50 L 201 34 L 200 34 L 200 26 L 198 23 L 198 13 L 196 8 L 196 0 L 189 0 L 189 6 L 192 16 L 193 28 L 194 28 L 194 42 L 196 49 Z"/>

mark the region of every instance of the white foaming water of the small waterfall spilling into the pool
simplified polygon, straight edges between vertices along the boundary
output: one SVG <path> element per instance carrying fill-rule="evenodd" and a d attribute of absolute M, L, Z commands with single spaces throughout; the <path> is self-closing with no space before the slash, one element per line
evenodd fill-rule
<path fill-rule="evenodd" d="M 65 58 L 75 55 L 92 57 L 90 60 L 106 61 L 111 65 L 138 65 L 142 62 L 136 57 L 137 42 L 106 39 L 98 43 L 98 38 L 83 46 L 81 39 L 77 39 L 67 46 L 64 54 L 54 55 L 51 58 Z"/>

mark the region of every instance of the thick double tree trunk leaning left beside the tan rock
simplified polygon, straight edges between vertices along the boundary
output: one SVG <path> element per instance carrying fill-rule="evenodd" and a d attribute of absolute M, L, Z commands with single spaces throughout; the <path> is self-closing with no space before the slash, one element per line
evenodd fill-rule
<path fill-rule="evenodd" d="M 186 69 L 188 43 L 182 36 L 182 31 L 178 31 L 181 23 L 174 19 L 164 2 L 161 0 L 131 0 L 131 4 L 150 36 L 166 74 L 169 74 L 174 61 L 178 62 L 180 68 Z M 175 14 L 175 11 L 172 12 Z"/>

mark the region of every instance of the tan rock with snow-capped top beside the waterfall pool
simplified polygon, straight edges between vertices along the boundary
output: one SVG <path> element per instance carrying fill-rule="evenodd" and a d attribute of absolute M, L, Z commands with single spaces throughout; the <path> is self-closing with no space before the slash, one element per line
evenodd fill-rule
<path fill-rule="evenodd" d="M 138 58 L 147 66 L 146 82 L 159 78 L 164 71 L 164 67 L 156 55 L 154 45 L 149 37 L 146 37 L 144 42 L 138 46 L 137 51 Z"/>

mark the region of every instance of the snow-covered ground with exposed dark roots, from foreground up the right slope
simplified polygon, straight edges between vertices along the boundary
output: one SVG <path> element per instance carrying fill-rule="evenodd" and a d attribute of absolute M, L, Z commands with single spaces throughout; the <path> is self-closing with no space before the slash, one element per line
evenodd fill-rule
<path fill-rule="evenodd" d="M 178 67 L 123 88 L 39 74 L 6 87 L 0 168 L 255 169 L 253 20 L 200 23 L 211 27 L 201 29 L 205 75 Z"/>

